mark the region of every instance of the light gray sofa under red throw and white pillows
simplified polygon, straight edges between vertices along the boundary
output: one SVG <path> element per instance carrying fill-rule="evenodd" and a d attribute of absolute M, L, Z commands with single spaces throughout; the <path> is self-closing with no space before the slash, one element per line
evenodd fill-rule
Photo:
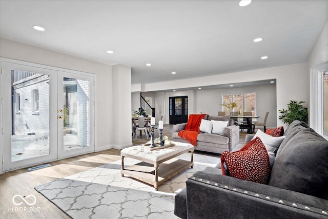
<path fill-rule="evenodd" d="M 195 150 L 222 153 L 223 151 L 232 151 L 239 144 L 239 127 L 234 125 L 234 121 L 230 119 L 230 115 L 207 115 L 204 119 L 210 121 L 229 121 L 229 126 L 224 128 L 223 135 L 208 133 L 198 134 Z M 173 126 L 173 141 L 186 142 L 178 136 L 178 132 L 185 129 L 186 124 L 187 123 L 181 123 Z"/>

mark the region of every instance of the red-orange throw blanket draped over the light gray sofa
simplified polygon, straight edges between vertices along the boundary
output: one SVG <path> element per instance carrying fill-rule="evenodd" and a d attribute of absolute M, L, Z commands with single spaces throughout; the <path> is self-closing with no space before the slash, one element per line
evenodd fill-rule
<path fill-rule="evenodd" d="M 206 115 L 207 114 L 190 114 L 185 129 L 178 132 L 179 137 L 196 147 L 200 122 Z"/>

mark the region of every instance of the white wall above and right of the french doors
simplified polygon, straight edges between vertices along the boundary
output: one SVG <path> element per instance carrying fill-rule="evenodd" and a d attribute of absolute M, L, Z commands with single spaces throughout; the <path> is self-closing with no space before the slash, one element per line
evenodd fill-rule
<path fill-rule="evenodd" d="M 113 121 L 112 116 L 109 116 L 113 114 L 112 66 L 59 52 L 54 52 L 47 49 L 9 41 L 8 39 L 4 38 L 0 38 L 0 48 L 0 57 L 96 74 L 97 81 L 95 106 L 97 117 L 95 150 L 98 151 L 112 147 Z M 131 83 L 129 88 L 130 86 Z"/>

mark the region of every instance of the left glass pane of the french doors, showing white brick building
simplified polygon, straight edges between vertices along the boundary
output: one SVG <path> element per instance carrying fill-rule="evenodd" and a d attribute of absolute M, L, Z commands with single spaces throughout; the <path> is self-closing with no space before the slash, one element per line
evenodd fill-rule
<path fill-rule="evenodd" d="M 11 161 L 50 154 L 49 78 L 11 71 Z"/>

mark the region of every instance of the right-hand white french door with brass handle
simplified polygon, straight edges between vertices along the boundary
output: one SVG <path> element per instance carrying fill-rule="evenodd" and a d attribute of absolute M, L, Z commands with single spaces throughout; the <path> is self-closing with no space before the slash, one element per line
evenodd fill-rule
<path fill-rule="evenodd" d="M 58 157 L 94 151 L 94 79 L 58 71 Z"/>

